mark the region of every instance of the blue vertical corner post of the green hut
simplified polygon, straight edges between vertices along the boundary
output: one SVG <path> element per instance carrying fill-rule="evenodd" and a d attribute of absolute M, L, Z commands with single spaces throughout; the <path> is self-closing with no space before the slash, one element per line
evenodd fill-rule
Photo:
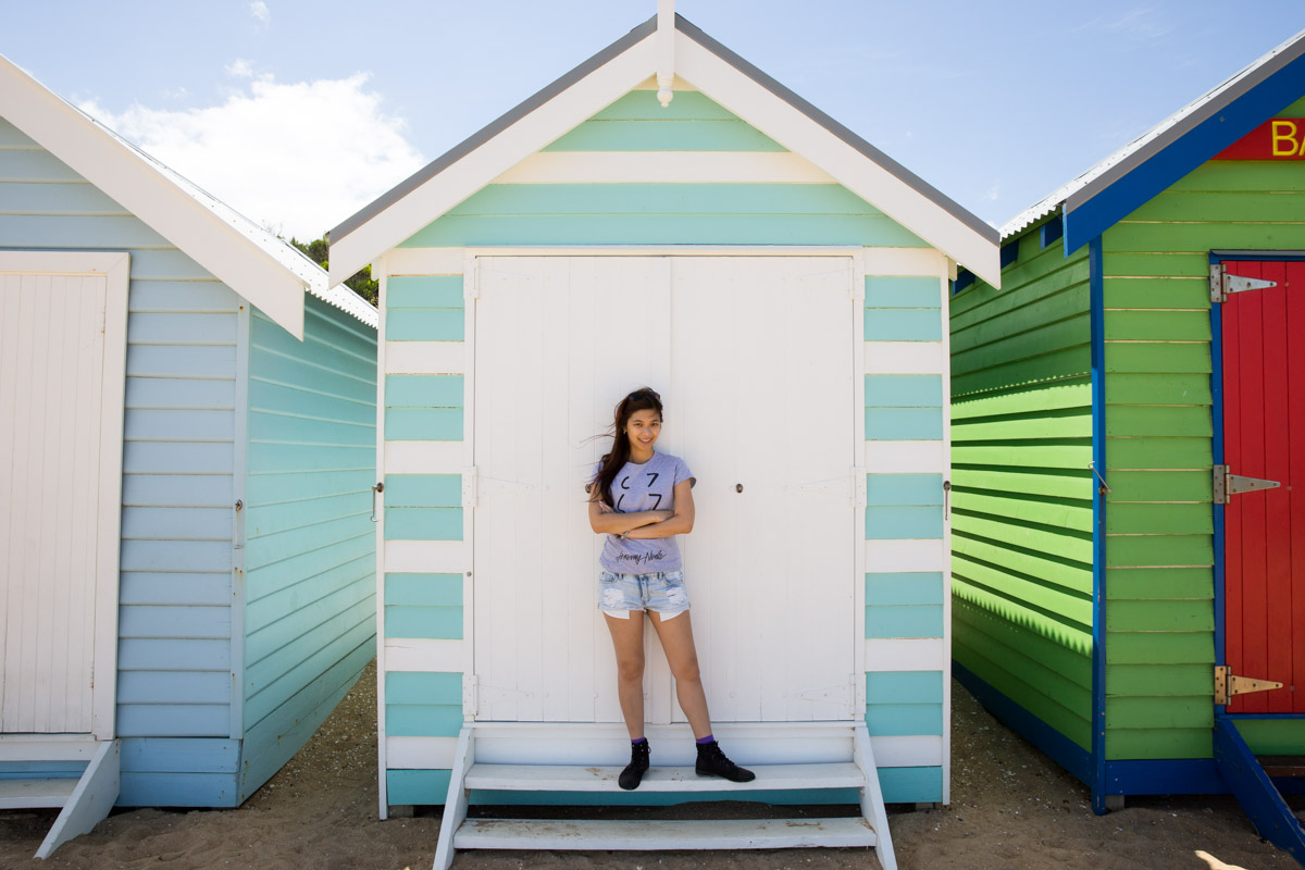
<path fill-rule="evenodd" d="M 1104 815 L 1105 794 L 1105 309 L 1101 236 L 1087 245 L 1092 360 L 1092 813 Z"/>

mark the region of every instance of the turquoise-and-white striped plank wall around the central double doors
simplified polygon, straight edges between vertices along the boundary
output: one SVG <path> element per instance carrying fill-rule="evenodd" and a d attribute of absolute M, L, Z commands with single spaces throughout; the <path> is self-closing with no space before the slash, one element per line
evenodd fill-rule
<path fill-rule="evenodd" d="M 718 183 L 720 172 L 729 184 Z M 677 91 L 667 111 L 652 91 L 637 90 L 388 254 L 381 680 L 390 805 L 442 802 L 461 724 L 467 361 L 458 248 L 542 244 L 928 248 L 705 95 Z M 405 265 L 432 260 L 446 266 Z M 941 801 L 949 698 L 942 290 L 941 277 L 908 274 L 916 277 L 867 282 L 868 357 L 872 343 L 882 351 L 867 364 L 867 455 L 881 455 L 868 483 L 867 554 L 880 567 L 868 567 L 865 579 L 867 656 L 872 670 L 886 672 L 867 682 L 867 720 L 903 747 L 900 767 L 881 770 L 886 798 Z M 891 363 L 904 344 L 917 348 L 910 373 Z"/>

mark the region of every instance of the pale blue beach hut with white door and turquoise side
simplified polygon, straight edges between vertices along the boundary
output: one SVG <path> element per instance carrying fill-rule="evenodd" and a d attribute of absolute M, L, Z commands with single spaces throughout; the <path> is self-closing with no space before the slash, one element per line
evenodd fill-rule
<path fill-rule="evenodd" d="M 0 59 L 0 806 L 236 806 L 373 655 L 376 310 Z"/>

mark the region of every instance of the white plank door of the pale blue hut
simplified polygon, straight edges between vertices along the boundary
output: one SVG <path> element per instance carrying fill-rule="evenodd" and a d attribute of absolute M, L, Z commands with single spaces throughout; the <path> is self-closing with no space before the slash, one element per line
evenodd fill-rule
<path fill-rule="evenodd" d="M 0 733 L 112 736 L 125 325 L 127 254 L 0 254 Z"/>

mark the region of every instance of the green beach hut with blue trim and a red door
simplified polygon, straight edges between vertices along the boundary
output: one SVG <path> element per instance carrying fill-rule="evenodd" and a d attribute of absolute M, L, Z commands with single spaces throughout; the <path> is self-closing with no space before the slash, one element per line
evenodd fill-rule
<path fill-rule="evenodd" d="M 1011 219 L 1001 290 L 955 282 L 955 673 L 1098 811 L 1272 797 L 1253 755 L 1305 754 L 1302 55 Z"/>

